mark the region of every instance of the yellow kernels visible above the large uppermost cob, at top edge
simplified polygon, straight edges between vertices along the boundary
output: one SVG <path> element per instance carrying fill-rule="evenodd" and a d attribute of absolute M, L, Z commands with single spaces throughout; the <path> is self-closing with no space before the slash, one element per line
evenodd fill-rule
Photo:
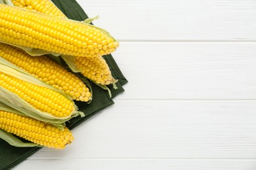
<path fill-rule="evenodd" d="M 35 10 L 43 14 L 65 17 L 65 15 L 56 8 L 54 3 L 49 0 L 11 0 L 15 7 L 20 7 L 28 10 Z"/>

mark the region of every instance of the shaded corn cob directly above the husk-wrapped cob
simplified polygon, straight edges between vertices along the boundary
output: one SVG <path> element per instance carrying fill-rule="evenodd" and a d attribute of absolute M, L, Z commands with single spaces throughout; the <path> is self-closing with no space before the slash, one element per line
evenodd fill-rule
<path fill-rule="evenodd" d="M 72 99 L 89 101 L 91 98 L 89 88 L 77 76 L 46 56 L 33 57 L 20 48 L 1 42 L 0 56 L 54 88 L 62 90 Z"/>

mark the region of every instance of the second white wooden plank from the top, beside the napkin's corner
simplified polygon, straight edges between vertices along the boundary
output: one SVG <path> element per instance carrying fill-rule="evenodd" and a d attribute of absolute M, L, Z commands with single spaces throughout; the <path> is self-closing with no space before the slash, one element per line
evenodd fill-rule
<path fill-rule="evenodd" d="M 121 42 L 117 99 L 256 99 L 255 42 Z"/>

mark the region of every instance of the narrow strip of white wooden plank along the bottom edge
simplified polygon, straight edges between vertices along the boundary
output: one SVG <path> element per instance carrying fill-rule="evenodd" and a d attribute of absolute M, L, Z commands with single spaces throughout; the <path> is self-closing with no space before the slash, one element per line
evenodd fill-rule
<path fill-rule="evenodd" d="M 33 157 L 32 157 L 33 158 Z M 38 166 L 43 165 L 43 166 Z M 165 160 L 165 159 L 28 159 L 15 169 L 112 169 L 112 170 L 251 170 L 255 160 Z"/>

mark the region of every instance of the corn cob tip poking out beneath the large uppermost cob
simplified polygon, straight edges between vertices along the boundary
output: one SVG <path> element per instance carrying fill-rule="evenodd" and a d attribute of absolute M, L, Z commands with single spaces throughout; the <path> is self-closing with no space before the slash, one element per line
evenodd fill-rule
<path fill-rule="evenodd" d="M 108 85 L 113 82 L 111 71 L 105 59 L 101 56 L 95 58 L 75 58 L 75 65 L 81 74 L 98 84 Z"/>

